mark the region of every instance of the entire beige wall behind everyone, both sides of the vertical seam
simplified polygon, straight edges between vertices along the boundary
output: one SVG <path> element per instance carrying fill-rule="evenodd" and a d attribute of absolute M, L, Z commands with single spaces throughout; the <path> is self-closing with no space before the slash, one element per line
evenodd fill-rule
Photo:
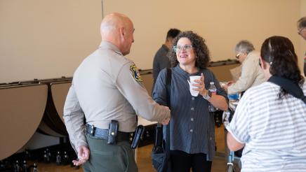
<path fill-rule="evenodd" d="M 72 76 L 100 43 L 101 5 L 100 0 L 1 0 L 0 83 Z M 296 34 L 296 21 L 305 6 L 305 0 L 104 0 L 103 13 L 131 17 L 135 43 L 128 57 L 138 68 L 152 69 L 171 27 L 203 36 L 213 61 L 232 59 L 241 39 L 259 50 L 272 35 L 291 38 L 301 54 L 306 46 Z"/>

